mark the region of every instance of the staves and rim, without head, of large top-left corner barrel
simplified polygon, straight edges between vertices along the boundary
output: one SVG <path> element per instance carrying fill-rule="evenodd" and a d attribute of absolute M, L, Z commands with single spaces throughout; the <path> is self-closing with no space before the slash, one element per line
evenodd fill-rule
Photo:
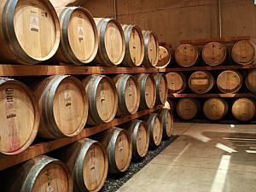
<path fill-rule="evenodd" d="M 55 23 L 55 44 L 50 50 L 49 54 L 45 56 L 44 58 L 33 58 L 32 56 L 28 55 L 24 49 L 21 48 L 20 43 L 16 37 L 15 34 L 15 28 L 14 28 L 14 16 L 15 16 L 15 7 L 18 1 L 11 0 L 11 1 L 5 1 L 5 3 L 1 3 L 1 7 L 3 8 L 1 11 L 1 25 L 2 29 L 0 32 L 0 41 L 5 42 L 6 44 L 2 44 L 2 47 L 4 46 L 4 51 L 1 51 L 1 58 L 3 58 L 4 61 L 8 62 L 19 62 L 20 64 L 24 65 L 34 65 L 38 64 L 42 61 L 47 61 L 50 58 L 52 58 L 60 44 L 60 38 L 61 38 L 61 29 L 60 24 L 58 20 L 58 16 L 55 13 L 55 9 L 53 5 L 49 2 L 49 0 L 43 0 L 45 5 L 48 7 L 50 14 L 52 15 L 53 21 Z M 10 18 L 9 18 L 10 16 Z M 6 20 L 5 20 L 6 19 Z M 5 24 L 3 26 L 3 24 Z M 3 54 L 5 53 L 5 54 Z"/>

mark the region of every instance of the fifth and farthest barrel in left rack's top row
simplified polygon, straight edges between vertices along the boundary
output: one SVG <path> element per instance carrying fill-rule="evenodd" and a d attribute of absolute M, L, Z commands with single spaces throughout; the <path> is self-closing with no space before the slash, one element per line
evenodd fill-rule
<path fill-rule="evenodd" d="M 155 67 L 159 60 L 159 42 L 155 32 L 143 31 L 145 55 L 143 67 Z"/>

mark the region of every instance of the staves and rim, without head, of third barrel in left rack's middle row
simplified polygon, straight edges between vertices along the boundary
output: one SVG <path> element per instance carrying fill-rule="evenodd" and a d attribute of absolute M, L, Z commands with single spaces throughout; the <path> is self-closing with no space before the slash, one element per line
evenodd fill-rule
<path fill-rule="evenodd" d="M 112 84 L 113 87 L 113 93 L 115 96 L 115 107 L 113 109 L 113 114 L 107 121 L 103 121 L 97 112 L 96 105 L 93 103 L 96 103 L 96 90 L 98 88 L 98 84 L 102 79 L 107 79 L 108 83 Z M 101 125 L 103 123 L 108 123 L 112 121 L 117 113 L 118 110 L 118 93 L 115 88 L 115 85 L 113 84 L 112 79 L 108 78 L 106 75 L 90 75 L 89 77 L 85 78 L 82 81 L 82 84 L 84 85 L 84 89 L 86 90 L 87 96 L 88 96 L 88 103 L 89 103 L 89 112 L 88 112 L 88 119 L 87 124 L 88 125 Z M 90 93 L 93 94 L 92 97 L 90 97 Z"/>

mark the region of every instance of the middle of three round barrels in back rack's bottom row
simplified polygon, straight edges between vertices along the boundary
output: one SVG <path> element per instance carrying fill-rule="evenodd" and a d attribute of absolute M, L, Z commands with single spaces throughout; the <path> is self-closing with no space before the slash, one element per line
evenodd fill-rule
<path fill-rule="evenodd" d="M 209 98 L 204 103 L 203 112 L 207 119 L 219 120 L 228 113 L 228 103 L 222 98 Z"/>

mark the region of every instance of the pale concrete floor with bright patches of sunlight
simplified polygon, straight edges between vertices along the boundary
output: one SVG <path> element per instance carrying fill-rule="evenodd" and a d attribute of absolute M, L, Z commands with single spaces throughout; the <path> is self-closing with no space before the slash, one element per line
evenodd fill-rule
<path fill-rule="evenodd" d="M 256 125 L 176 123 L 174 134 L 119 192 L 256 192 Z"/>

